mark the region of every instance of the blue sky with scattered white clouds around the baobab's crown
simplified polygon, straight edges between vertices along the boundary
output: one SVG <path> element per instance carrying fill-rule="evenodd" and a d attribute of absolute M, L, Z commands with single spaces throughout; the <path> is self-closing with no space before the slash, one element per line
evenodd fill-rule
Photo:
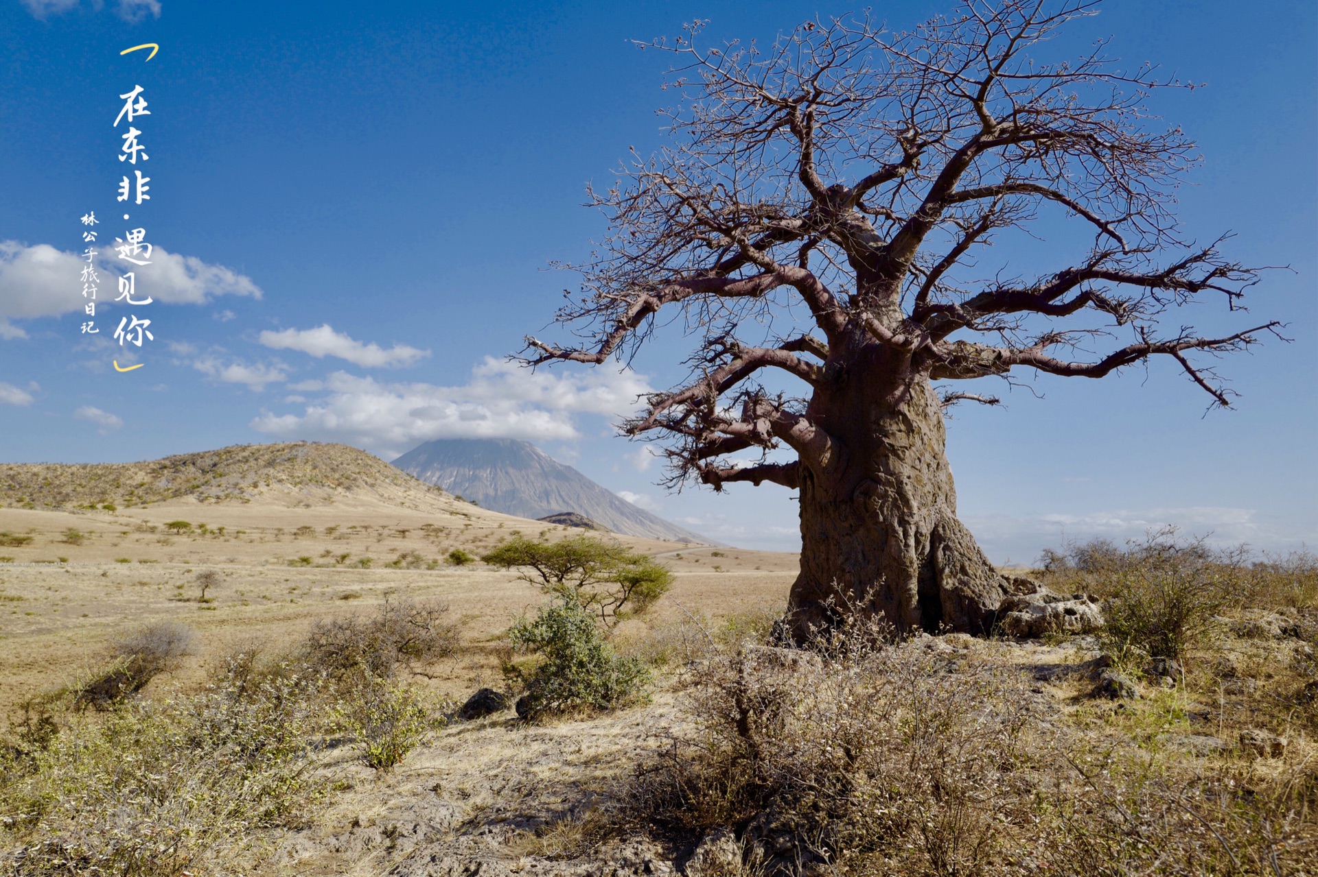
<path fill-rule="evenodd" d="M 907 28 L 949 5 L 878 13 Z M 613 436 L 638 391 L 681 377 L 680 337 L 634 373 L 531 377 L 502 358 L 573 284 L 550 262 L 584 258 L 604 230 L 580 207 L 585 183 L 663 142 L 667 59 L 629 41 L 697 17 L 712 37 L 763 40 L 847 9 L 0 0 L 0 458 L 286 438 L 390 458 L 434 437 L 511 436 L 693 529 L 795 548 L 789 491 L 668 495 L 643 446 Z M 1269 550 L 1318 543 L 1318 24 L 1309 1 L 1248 11 L 1110 0 L 1056 50 L 1112 36 L 1112 54 L 1207 86 L 1153 101 L 1205 155 L 1181 216 L 1199 238 L 1235 232 L 1242 262 L 1289 266 L 1253 290 L 1249 316 L 1286 321 L 1294 342 L 1222 363 L 1234 411 L 1205 416 L 1207 396 L 1161 362 L 958 408 L 961 515 L 999 562 L 1164 523 Z M 119 55 L 142 42 L 159 54 Z M 152 200 L 124 223 L 116 183 L 132 167 L 112 122 L 134 84 L 150 108 L 133 124 Z M 79 333 L 78 219 L 91 209 L 100 244 L 146 228 L 157 248 L 141 274 L 156 340 L 141 353 L 111 340 L 127 311 L 108 287 L 101 334 Z M 1064 258 L 1066 234 L 1053 237 L 1019 248 L 1023 273 Z M 1219 311 L 1193 316 L 1236 325 Z M 145 366 L 119 374 L 112 359 Z"/>

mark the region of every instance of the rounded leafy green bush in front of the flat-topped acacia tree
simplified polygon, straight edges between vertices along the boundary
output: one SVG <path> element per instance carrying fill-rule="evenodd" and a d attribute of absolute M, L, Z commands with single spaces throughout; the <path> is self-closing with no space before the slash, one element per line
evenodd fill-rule
<path fill-rule="evenodd" d="M 539 657 L 530 670 L 505 668 L 525 687 L 517 702 L 523 719 L 612 710 L 646 697 L 651 677 L 645 664 L 619 656 L 596 614 L 571 594 L 542 607 L 534 619 L 518 620 L 507 639 L 517 652 Z"/>

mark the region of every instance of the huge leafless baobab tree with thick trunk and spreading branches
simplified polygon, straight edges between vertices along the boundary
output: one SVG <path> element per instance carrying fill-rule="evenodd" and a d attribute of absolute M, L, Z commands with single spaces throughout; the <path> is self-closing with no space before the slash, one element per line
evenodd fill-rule
<path fill-rule="evenodd" d="M 610 230 L 571 266 L 581 294 L 556 317 L 585 342 L 529 337 L 522 359 L 627 358 L 666 315 L 685 317 L 689 379 L 648 395 L 625 432 L 667 440 L 671 486 L 800 490 L 797 636 L 837 606 L 900 629 L 992 625 L 1011 582 L 957 520 L 944 410 L 996 399 L 932 382 L 1165 358 L 1228 406 L 1203 358 L 1277 331 L 1169 328 L 1209 295 L 1240 309 L 1259 274 L 1178 233 L 1194 146 L 1144 105 L 1178 83 L 1118 68 L 1102 43 L 1031 57 L 1095 7 L 969 0 L 904 34 L 846 18 L 766 50 L 705 49 L 697 24 L 648 43 L 679 58 L 671 144 L 590 191 Z M 995 238 L 1074 225 L 1093 238 L 1060 270 L 979 265 Z"/>

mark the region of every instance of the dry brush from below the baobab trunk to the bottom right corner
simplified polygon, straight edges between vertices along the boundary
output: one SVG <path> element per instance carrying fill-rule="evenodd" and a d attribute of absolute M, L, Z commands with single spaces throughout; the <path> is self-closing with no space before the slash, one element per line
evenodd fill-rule
<path fill-rule="evenodd" d="M 886 640 L 853 623 L 709 658 L 631 816 L 731 830 L 760 874 L 1271 874 L 1318 852 L 1302 758 L 1182 765 L 1070 727 L 992 647 Z"/>

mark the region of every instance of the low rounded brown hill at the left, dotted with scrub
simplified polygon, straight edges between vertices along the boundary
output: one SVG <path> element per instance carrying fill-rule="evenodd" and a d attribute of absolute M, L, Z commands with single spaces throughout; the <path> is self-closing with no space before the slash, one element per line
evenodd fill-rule
<path fill-rule="evenodd" d="M 386 503 L 452 502 L 384 460 L 339 444 L 232 445 L 130 464 L 0 464 L 0 504 L 123 508 L 191 498 L 307 506 L 352 495 Z"/>

